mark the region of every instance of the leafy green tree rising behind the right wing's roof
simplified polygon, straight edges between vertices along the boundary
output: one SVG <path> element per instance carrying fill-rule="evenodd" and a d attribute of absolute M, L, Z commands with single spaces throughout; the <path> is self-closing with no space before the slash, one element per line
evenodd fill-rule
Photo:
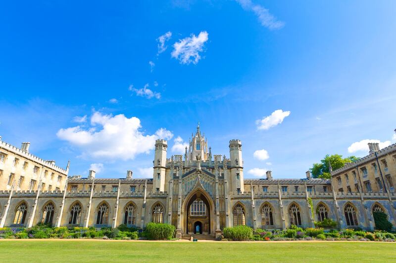
<path fill-rule="evenodd" d="M 333 154 L 333 155 L 326 154 L 326 156 L 322 160 L 320 160 L 320 163 L 314 163 L 312 168 L 310 168 L 309 170 L 311 171 L 313 178 L 330 179 L 331 175 L 330 175 L 329 162 L 333 170 L 336 170 L 344 167 L 346 163 L 355 162 L 358 159 L 359 159 L 358 157 L 353 155 L 347 158 L 343 158 L 343 155 L 340 154 Z"/>

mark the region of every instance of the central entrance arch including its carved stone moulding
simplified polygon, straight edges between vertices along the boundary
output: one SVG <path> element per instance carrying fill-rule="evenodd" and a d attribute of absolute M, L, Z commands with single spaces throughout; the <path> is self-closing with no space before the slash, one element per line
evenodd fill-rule
<path fill-rule="evenodd" d="M 196 233 L 199 226 L 201 234 L 212 234 L 215 229 L 213 220 L 214 203 L 207 192 L 197 189 L 190 192 L 183 205 L 182 229 L 184 233 Z"/>

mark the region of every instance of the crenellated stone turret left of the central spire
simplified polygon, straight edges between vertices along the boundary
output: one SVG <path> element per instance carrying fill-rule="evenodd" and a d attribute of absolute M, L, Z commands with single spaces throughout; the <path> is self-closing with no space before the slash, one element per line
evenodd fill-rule
<path fill-rule="evenodd" d="M 155 141 L 155 153 L 153 161 L 153 191 L 165 191 L 165 165 L 167 148 L 168 144 L 165 140 Z"/>

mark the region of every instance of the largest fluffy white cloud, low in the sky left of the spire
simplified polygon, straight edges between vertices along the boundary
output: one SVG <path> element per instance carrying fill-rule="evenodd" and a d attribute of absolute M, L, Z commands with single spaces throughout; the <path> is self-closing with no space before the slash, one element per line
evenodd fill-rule
<path fill-rule="evenodd" d="M 139 118 L 128 118 L 124 114 L 113 116 L 95 112 L 90 124 L 88 128 L 75 126 L 60 129 L 56 135 L 78 147 L 82 151 L 81 157 L 99 160 L 134 159 L 138 154 L 153 150 L 158 135 L 170 137 L 164 129 L 146 135 L 141 130 Z"/>

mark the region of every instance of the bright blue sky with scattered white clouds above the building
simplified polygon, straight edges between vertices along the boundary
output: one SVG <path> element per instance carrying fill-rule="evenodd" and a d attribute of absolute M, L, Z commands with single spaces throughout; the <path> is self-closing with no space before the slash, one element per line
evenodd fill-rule
<path fill-rule="evenodd" d="M 0 136 L 69 175 L 152 178 L 154 142 L 245 178 L 304 178 L 326 154 L 396 143 L 396 2 L 8 1 Z"/>

